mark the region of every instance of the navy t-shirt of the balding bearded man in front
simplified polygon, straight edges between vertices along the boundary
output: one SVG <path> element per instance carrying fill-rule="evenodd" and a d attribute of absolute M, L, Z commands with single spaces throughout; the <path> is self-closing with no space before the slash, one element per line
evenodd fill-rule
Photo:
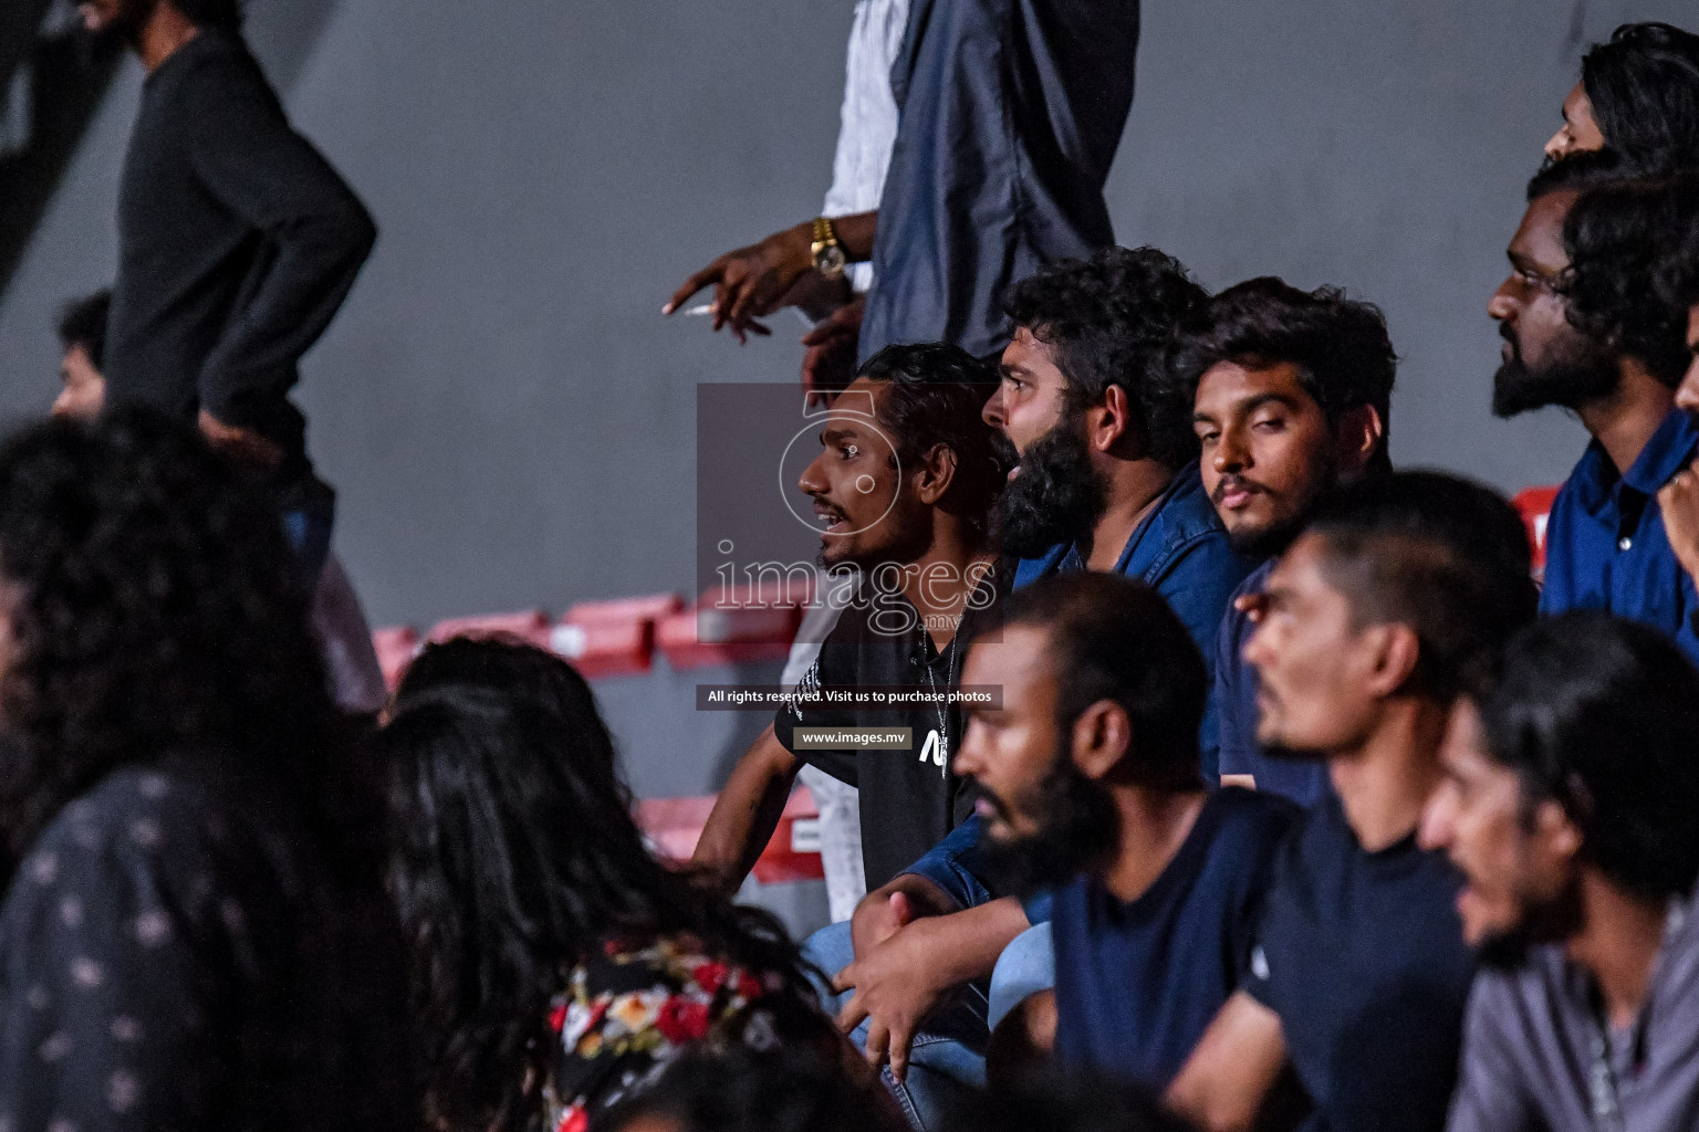
<path fill-rule="evenodd" d="M 1057 1056 L 1162 1091 L 1250 961 L 1274 849 L 1296 808 L 1215 791 L 1138 899 L 1096 877 L 1055 894 Z"/>

